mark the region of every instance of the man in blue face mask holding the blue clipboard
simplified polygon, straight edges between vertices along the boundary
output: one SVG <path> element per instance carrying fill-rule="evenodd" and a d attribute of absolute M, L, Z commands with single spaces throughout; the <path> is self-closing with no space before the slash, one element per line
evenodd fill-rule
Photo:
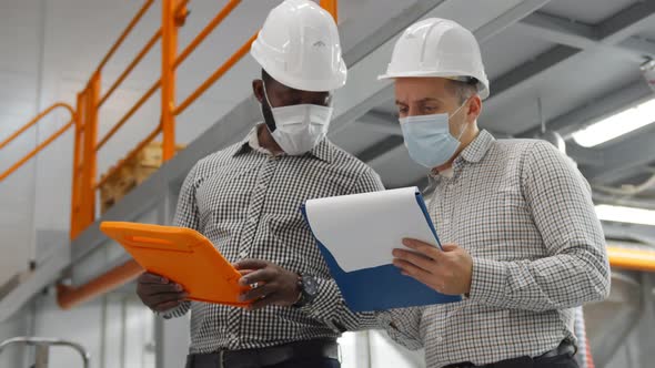
<path fill-rule="evenodd" d="M 609 293 L 587 183 L 550 143 L 480 131 L 490 94 L 474 35 L 444 19 L 410 27 L 386 74 L 411 157 L 430 171 L 443 252 L 395 249 L 403 274 L 461 303 L 382 313 L 390 335 L 425 348 L 429 367 L 577 367 L 576 307 Z"/>

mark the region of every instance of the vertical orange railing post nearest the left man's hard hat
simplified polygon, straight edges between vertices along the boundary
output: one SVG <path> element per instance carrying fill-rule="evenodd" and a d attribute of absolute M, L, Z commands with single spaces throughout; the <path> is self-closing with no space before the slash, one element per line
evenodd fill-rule
<path fill-rule="evenodd" d="M 162 58 L 161 58 L 161 125 L 163 131 L 163 160 L 175 154 L 175 59 L 178 58 L 178 0 L 162 1 Z"/>

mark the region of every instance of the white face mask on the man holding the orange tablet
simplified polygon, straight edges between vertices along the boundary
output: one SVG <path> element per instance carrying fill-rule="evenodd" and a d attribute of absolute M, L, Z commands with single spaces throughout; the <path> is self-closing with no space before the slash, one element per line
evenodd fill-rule
<path fill-rule="evenodd" d="M 265 85 L 264 96 L 275 121 L 275 131 L 271 135 L 286 154 L 301 155 L 310 152 L 328 135 L 333 108 L 315 104 L 273 108 Z"/>

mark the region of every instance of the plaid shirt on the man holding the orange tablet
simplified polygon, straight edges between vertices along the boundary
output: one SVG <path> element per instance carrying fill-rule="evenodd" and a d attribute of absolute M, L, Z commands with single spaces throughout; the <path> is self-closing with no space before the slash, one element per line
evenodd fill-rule
<path fill-rule="evenodd" d="M 380 190 L 373 170 L 328 140 L 302 156 L 274 156 L 259 146 L 256 129 L 195 164 L 182 186 L 174 225 L 202 233 L 229 262 L 259 258 L 313 275 L 319 294 L 302 308 L 254 311 L 183 303 L 165 315 L 180 317 L 191 309 L 190 352 L 336 338 L 344 330 L 379 326 L 374 314 L 354 314 L 345 306 L 300 207 L 310 198 Z"/>

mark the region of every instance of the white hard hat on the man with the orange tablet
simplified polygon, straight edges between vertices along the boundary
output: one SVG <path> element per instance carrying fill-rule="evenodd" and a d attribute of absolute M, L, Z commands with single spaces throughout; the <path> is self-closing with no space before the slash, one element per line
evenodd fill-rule
<path fill-rule="evenodd" d="M 336 23 L 310 0 L 285 0 L 271 10 L 250 54 L 276 81 L 296 90 L 333 91 L 345 84 Z"/>

